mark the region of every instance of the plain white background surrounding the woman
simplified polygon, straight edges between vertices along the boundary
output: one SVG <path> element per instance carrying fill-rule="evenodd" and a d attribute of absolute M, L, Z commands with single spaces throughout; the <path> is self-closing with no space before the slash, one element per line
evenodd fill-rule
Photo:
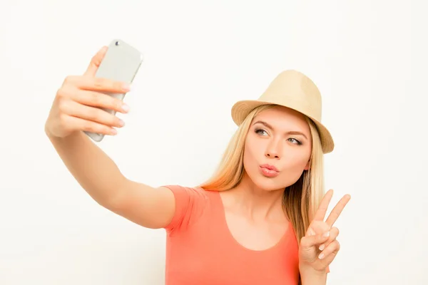
<path fill-rule="evenodd" d="M 332 202 L 350 193 L 328 284 L 428 284 L 423 1 L 1 1 L 0 284 L 163 284 L 165 234 L 94 202 L 44 134 L 56 90 L 112 38 L 145 54 L 126 127 L 100 144 L 159 186 L 208 178 L 230 108 L 295 68 L 322 91 Z"/>

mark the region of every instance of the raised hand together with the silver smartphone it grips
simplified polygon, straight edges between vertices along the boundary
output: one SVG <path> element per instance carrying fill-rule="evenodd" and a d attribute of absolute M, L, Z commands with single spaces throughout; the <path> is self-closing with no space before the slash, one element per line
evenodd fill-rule
<path fill-rule="evenodd" d="M 104 135 L 116 135 L 115 128 L 123 126 L 116 112 L 128 112 L 123 98 L 142 61 L 141 53 L 123 41 L 101 48 L 83 76 L 68 76 L 58 89 L 46 133 L 65 138 L 83 131 L 98 142 Z"/>

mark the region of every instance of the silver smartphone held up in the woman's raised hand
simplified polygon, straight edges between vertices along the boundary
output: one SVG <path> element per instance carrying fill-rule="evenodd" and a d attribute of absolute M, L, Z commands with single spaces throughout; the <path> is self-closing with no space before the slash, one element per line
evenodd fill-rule
<path fill-rule="evenodd" d="M 113 81 L 121 81 L 131 84 L 136 76 L 138 69 L 143 63 L 143 53 L 137 48 L 129 45 L 121 39 L 113 39 L 108 45 L 106 55 L 98 66 L 95 76 L 111 79 Z M 106 93 L 119 100 L 123 100 L 126 93 Z M 112 115 L 116 115 L 116 111 L 101 108 Z M 92 140 L 101 142 L 104 135 L 98 133 L 84 132 Z"/>

